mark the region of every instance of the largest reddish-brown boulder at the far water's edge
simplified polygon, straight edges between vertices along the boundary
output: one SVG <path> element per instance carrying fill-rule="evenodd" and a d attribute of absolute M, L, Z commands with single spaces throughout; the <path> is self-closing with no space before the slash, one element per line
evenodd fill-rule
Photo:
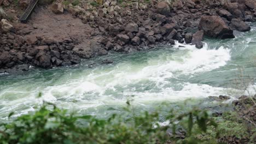
<path fill-rule="evenodd" d="M 213 38 L 235 38 L 233 31 L 219 16 L 202 16 L 199 29 L 203 30 L 204 34 Z"/>

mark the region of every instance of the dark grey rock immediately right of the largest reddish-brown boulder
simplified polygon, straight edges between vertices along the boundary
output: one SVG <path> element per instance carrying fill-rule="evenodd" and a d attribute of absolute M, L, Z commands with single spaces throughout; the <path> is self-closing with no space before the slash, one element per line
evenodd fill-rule
<path fill-rule="evenodd" d="M 241 19 L 232 19 L 230 23 L 230 27 L 240 32 L 247 32 L 251 30 L 251 27 Z"/>

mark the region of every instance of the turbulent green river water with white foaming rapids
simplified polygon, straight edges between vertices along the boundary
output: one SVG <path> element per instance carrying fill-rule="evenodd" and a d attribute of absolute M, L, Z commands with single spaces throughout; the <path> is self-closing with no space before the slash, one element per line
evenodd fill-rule
<path fill-rule="evenodd" d="M 72 67 L 0 75 L 0 119 L 32 112 L 43 100 L 63 109 L 106 117 L 122 112 L 127 99 L 138 110 L 188 98 L 207 107 L 208 96 L 255 93 L 256 27 L 226 40 L 205 39 L 203 49 L 176 44 L 109 53 Z M 103 59 L 112 64 L 101 64 Z M 243 91 L 247 89 L 248 91 Z M 37 98 L 39 92 L 43 95 Z M 201 102 L 199 102 L 201 100 Z"/>

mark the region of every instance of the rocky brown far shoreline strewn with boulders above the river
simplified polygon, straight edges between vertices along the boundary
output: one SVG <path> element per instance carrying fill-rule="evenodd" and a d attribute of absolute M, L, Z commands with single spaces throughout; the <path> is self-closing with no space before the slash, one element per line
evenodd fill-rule
<path fill-rule="evenodd" d="M 28 3 L 19 1 L 21 8 Z M 78 64 L 108 51 L 137 51 L 174 40 L 200 49 L 205 35 L 234 38 L 233 31 L 250 31 L 248 22 L 256 21 L 253 0 L 47 2 L 36 8 L 27 24 L 18 21 L 22 10 L 12 1 L 1 4 L 0 73 L 26 71 L 30 65 Z"/>

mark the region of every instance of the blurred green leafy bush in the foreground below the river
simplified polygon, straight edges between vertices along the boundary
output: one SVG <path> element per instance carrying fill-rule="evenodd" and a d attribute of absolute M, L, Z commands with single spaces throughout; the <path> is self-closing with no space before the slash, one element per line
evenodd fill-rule
<path fill-rule="evenodd" d="M 207 112 L 200 110 L 182 115 L 174 115 L 171 111 L 165 126 L 159 123 L 162 117 L 158 112 L 135 115 L 130 106 L 126 110 L 127 115 L 97 119 L 68 114 L 54 105 L 49 110 L 49 105 L 44 105 L 33 115 L 23 115 L 11 123 L 1 124 L 0 143 L 190 143 L 200 141 L 195 135 L 205 133 L 207 126 L 217 127 Z M 176 131 L 181 127 L 179 122 L 185 124 L 185 139 L 178 138 L 176 133 L 167 134 L 167 129 Z M 194 125 L 199 132 L 192 130 Z"/>

